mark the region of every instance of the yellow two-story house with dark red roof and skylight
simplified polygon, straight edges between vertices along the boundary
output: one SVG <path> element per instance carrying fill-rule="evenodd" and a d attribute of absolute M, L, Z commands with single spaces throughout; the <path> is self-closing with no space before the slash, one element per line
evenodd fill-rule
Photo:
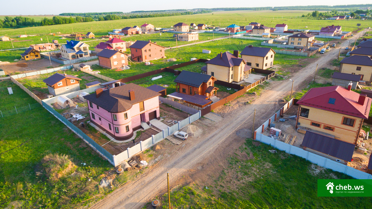
<path fill-rule="evenodd" d="M 359 144 L 372 99 L 341 86 L 312 88 L 297 104 L 296 128 L 303 126 L 351 144 Z"/>

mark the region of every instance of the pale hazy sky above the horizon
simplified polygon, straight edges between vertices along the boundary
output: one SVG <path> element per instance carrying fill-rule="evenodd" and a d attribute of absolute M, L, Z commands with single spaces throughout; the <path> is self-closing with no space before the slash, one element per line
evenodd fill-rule
<path fill-rule="evenodd" d="M 1 0 L 0 16 L 3 15 L 58 15 L 60 13 L 84 13 L 84 12 L 131 12 L 136 10 L 167 10 L 167 9 L 194 9 L 194 8 L 217 8 L 217 7 L 266 7 L 266 6 L 308 6 L 308 5 L 347 5 L 366 4 L 365 0 L 142 0 L 142 1 L 102 1 L 102 0 Z"/>

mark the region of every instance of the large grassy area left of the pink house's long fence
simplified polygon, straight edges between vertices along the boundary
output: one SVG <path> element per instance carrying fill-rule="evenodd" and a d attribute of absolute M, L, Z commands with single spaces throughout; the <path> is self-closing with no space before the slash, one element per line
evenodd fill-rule
<path fill-rule="evenodd" d="M 5 87 L 9 86 L 12 95 L 7 94 Z M 1 107 L 35 102 L 8 81 L 0 82 L 0 95 Z M 22 208 L 74 208 L 98 193 L 110 192 L 98 189 L 97 183 L 112 165 L 43 107 L 0 118 L 0 136 L 0 208 L 15 200 L 23 201 Z M 40 162 L 54 153 L 72 158 L 77 165 L 75 175 L 47 179 Z M 42 174 L 36 176 L 39 171 Z"/>

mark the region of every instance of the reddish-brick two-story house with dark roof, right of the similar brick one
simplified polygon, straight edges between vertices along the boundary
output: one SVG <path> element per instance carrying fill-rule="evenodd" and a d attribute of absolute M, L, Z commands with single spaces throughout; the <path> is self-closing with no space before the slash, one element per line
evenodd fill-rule
<path fill-rule="evenodd" d="M 137 62 L 147 62 L 164 57 L 164 47 L 150 41 L 136 41 L 129 48 L 131 48 L 132 60 Z"/>

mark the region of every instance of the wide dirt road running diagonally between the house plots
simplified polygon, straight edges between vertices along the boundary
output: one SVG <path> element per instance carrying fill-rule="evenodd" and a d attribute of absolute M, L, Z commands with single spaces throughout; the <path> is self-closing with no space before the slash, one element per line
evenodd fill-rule
<path fill-rule="evenodd" d="M 348 45 L 347 41 L 339 44 L 344 48 Z M 309 64 L 292 75 L 294 80 L 294 90 L 303 88 L 306 83 L 314 77 L 315 67 L 325 65 L 333 59 L 336 59 L 339 53 L 338 49 L 330 50 L 322 55 L 317 61 Z M 215 175 L 208 173 L 209 168 L 218 168 L 221 161 L 235 151 L 245 138 L 239 137 L 235 131 L 240 129 L 251 129 L 253 120 L 253 109 L 256 108 L 256 127 L 262 124 L 269 116 L 280 109 L 282 103 L 280 100 L 290 94 L 292 81 L 284 80 L 276 83 L 276 86 L 267 90 L 251 105 L 242 106 L 231 112 L 219 124 L 219 127 L 209 135 L 205 134 L 184 147 L 180 146 L 177 151 L 164 157 L 158 164 L 147 170 L 139 179 L 129 182 L 121 188 L 109 194 L 105 199 L 96 203 L 92 208 L 141 208 L 153 197 L 161 194 L 167 187 L 166 173 L 170 173 L 170 183 L 172 186 L 179 184 L 183 179 L 198 179 L 200 176 Z M 210 171 L 210 170 L 209 170 Z M 185 182 L 185 181 L 184 181 Z"/>

